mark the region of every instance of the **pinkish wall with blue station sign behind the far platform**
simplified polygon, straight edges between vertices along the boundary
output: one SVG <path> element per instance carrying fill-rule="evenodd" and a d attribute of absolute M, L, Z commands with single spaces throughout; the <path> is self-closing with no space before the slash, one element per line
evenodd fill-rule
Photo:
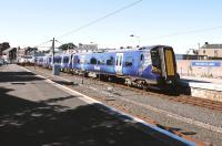
<path fill-rule="evenodd" d="M 178 60 L 180 76 L 200 76 L 222 79 L 222 60 Z"/>

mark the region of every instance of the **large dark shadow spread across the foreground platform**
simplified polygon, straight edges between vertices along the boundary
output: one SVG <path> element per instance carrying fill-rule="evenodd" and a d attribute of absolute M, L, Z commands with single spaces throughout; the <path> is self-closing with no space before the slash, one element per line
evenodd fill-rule
<path fill-rule="evenodd" d="M 98 111 L 93 105 L 69 108 L 47 103 L 70 98 L 31 102 L 7 94 L 0 87 L 0 145 L 2 146 L 89 146 L 165 145 L 130 124 Z"/>

